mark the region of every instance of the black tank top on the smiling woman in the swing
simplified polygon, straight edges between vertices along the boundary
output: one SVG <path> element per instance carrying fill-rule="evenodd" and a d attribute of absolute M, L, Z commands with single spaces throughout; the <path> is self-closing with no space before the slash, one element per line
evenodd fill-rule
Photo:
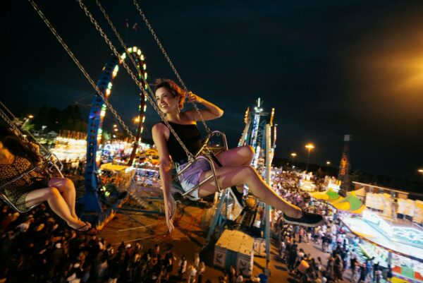
<path fill-rule="evenodd" d="M 164 124 L 164 121 L 160 121 Z M 181 125 L 169 122 L 173 130 L 178 135 L 183 144 L 188 148 L 188 150 L 195 155 L 198 150 L 202 147 L 200 130 L 196 124 Z M 166 124 L 164 124 L 166 126 Z M 169 155 L 171 155 L 173 162 L 180 162 L 180 160 L 188 159 L 188 156 L 185 154 L 182 146 L 178 143 L 173 133 L 169 133 L 169 138 L 167 140 L 167 147 Z"/>

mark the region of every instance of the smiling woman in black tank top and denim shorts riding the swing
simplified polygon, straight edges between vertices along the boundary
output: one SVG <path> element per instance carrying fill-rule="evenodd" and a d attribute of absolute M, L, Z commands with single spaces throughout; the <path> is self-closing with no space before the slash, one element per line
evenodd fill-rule
<path fill-rule="evenodd" d="M 202 119 L 205 121 L 221 117 L 223 110 L 192 92 L 185 94 L 185 91 L 179 88 L 172 80 L 157 80 L 155 96 L 161 112 L 165 115 L 166 121 L 172 126 L 188 150 L 195 155 L 202 146 L 200 131 L 196 124 L 196 121 L 199 121 L 200 117 L 195 110 L 181 111 L 185 99 L 188 102 L 195 102 L 204 106 L 205 109 L 201 109 L 200 112 Z M 177 171 L 180 171 L 188 162 L 188 157 L 163 122 L 153 126 L 152 136 L 159 152 L 159 169 L 164 192 L 166 224 L 169 231 L 172 231 L 174 229 L 172 218 L 176 204 L 171 195 L 171 158 L 176 164 Z M 257 174 L 257 171 L 250 166 L 253 156 L 254 150 L 248 145 L 217 154 L 216 158 L 222 164 L 221 167 L 216 168 L 216 177 L 219 186 L 221 188 L 236 186 L 239 191 L 242 191 L 243 185 L 247 184 L 252 194 L 259 198 L 259 200 L 275 207 L 276 210 L 283 211 L 283 217 L 287 223 L 299 224 L 306 227 L 317 227 L 323 223 L 323 217 L 321 215 L 305 212 L 300 207 L 288 203 L 277 195 L 262 180 L 259 174 Z M 183 190 L 188 191 L 211 174 L 212 170 L 209 163 L 204 159 L 198 159 L 180 176 L 179 181 Z M 200 186 L 199 189 L 190 193 L 190 198 L 204 198 L 207 195 L 215 193 L 216 190 L 214 180 L 210 179 Z M 233 195 L 237 196 L 240 193 L 233 192 Z"/>

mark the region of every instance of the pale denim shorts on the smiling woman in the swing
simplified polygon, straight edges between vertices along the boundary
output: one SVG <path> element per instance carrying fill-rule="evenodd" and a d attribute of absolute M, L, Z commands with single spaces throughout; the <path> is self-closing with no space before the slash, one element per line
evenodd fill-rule
<path fill-rule="evenodd" d="M 176 171 L 179 172 L 180 170 L 187 167 L 188 164 L 189 163 L 180 165 L 176 168 Z M 210 164 L 207 159 L 198 159 L 196 162 L 194 162 L 194 164 L 192 164 L 190 168 L 188 168 L 186 171 L 183 172 L 183 174 L 180 174 L 180 176 L 178 176 L 180 186 L 182 186 L 183 191 L 190 191 L 191 188 L 197 186 L 198 183 L 200 183 L 200 176 L 202 172 L 209 171 L 211 169 L 212 168 L 210 167 Z M 192 200 L 198 200 L 198 189 L 189 193 L 188 196 Z"/>

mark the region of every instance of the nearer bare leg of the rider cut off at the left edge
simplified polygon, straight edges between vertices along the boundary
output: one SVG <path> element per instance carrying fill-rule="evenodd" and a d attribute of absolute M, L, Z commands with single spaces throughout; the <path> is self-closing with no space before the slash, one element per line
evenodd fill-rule
<path fill-rule="evenodd" d="M 51 210 L 56 213 L 61 219 L 65 220 L 70 227 L 78 228 L 82 227 L 85 222 L 82 222 L 80 219 L 75 218 L 71 215 L 68 204 L 63 199 L 63 196 L 57 188 L 39 188 L 28 193 L 25 202 L 28 207 L 32 205 L 37 205 L 46 201 L 49 203 Z M 87 226 L 87 229 L 90 229 L 90 225 Z"/>

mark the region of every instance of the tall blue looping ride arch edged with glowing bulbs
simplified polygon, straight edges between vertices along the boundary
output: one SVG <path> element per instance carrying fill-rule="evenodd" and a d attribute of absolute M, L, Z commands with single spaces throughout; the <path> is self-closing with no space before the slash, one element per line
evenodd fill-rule
<path fill-rule="evenodd" d="M 133 56 L 137 64 L 137 71 L 139 76 L 144 76 L 147 79 L 146 64 L 144 54 L 141 49 L 137 47 L 129 47 L 127 52 L 123 52 L 120 58 L 111 56 L 109 61 L 106 62 L 102 69 L 102 74 L 97 81 L 97 86 L 101 92 L 104 93 L 106 99 L 111 94 L 114 78 L 116 78 L 119 66 L 128 56 Z M 143 80 L 140 80 L 142 87 L 146 88 Z M 140 135 L 143 129 L 143 122 L 145 121 L 145 109 L 146 104 L 145 93 L 140 94 L 140 121 L 137 131 L 137 142 L 140 140 Z M 92 107 L 90 110 L 90 116 L 88 119 L 88 131 L 87 131 L 87 164 L 85 167 L 85 195 L 78 200 L 79 204 L 84 205 L 83 210 L 85 212 L 102 212 L 102 205 L 99 202 L 99 180 L 97 177 L 97 170 L 99 169 L 99 162 L 101 152 L 98 151 L 99 143 L 102 140 L 102 124 L 104 116 L 106 115 L 106 105 L 104 104 L 102 97 L 94 95 L 92 100 Z M 135 146 L 137 143 L 135 143 Z"/>

